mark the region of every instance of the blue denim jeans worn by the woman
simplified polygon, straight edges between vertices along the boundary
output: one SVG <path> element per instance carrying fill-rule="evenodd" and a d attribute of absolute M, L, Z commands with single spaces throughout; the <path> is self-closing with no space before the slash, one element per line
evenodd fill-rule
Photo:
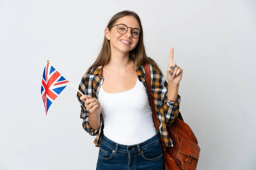
<path fill-rule="evenodd" d="M 163 155 L 158 132 L 134 145 L 122 145 L 104 134 L 99 147 L 96 170 L 163 170 Z"/>

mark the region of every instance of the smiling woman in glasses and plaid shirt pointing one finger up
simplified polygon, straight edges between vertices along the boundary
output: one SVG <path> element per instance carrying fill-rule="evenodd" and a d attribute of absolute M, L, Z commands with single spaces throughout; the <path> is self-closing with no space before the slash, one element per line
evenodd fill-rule
<path fill-rule="evenodd" d="M 156 62 L 145 53 L 139 16 L 133 11 L 121 11 L 109 21 L 99 56 L 81 79 L 79 90 L 84 95 L 77 94 L 83 128 L 96 136 L 94 143 L 99 147 L 97 170 L 163 169 L 143 64 L 150 65 L 161 136 L 166 146 L 172 146 L 166 126 L 172 124 L 179 111 L 178 88 L 183 74 L 172 62 L 173 51 L 166 81 Z"/>

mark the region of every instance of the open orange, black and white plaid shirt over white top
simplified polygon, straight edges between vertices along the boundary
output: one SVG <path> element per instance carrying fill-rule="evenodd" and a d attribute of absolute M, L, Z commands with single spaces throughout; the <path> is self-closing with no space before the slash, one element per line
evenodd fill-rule
<path fill-rule="evenodd" d="M 173 102 L 172 100 L 168 101 L 167 99 L 168 83 L 166 82 L 165 78 L 160 73 L 160 71 L 157 70 L 157 68 L 153 67 L 151 64 L 149 64 L 149 67 L 150 67 L 150 73 L 151 73 L 151 91 L 153 94 L 152 96 L 153 96 L 154 106 L 157 113 L 157 119 L 159 122 L 160 133 L 165 142 L 166 147 L 173 146 L 172 139 L 170 139 L 169 137 L 166 125 L 167 126 L 171 125 L 179 113 L 180 95 L 177 96 L 177 102 Z M 137 66 L 136 72 L 137 72 L 138 79 L 140 80 L 140 82 L 143 83 L 148 94 L 144 67 Z M 81 83 L 79 85 L 79 91 L 81 91 L 83 94 L 90 95 L 98 99 L 98 93 L 99 93 L 99 89 L 102 86 L 102 83 L 103 83 L 103 77 L 102 77 L 102 65 L 101 65 L 101 66 L 92 68 L 90 71 L 87 71 L 84 74 L 84 76 L 81 79 Z M 99 129 L 94 130 L 89 125 L 90 113 L 88 113 L 85 110 L 86 108 L 84 107 L 84 102 L 79 99 L 80 96 L 81 94 L 77 93 L 77 99 L 81 104 L 80 118 L 83 119 L 83 128 L 91 136 L 96 136 L 96 139 L 94 140 L 94 144 L 96 144 L 96 147 L 99 147 L 102 141 L 102 134 L 103 134 L 103 128 L 104 128 L 103 116 L 102 114 L 100 114 L 101 123 L 100 123 Z M 150 103 L 149 96 L 148 96 L 148 102 Z"/>

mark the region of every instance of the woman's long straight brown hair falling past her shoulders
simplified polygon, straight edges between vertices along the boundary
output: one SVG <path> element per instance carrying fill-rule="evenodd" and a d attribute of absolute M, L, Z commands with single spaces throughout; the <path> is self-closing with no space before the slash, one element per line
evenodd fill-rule
<path fill-rule="evenodd" d="M 145 62 L 148 62 L 151 65 L 153 65 L 154 67 L 156 67 L 161 72 L 157 63 L 150 57 L 147 57 L 147 55 L 146 55 L 145 46 L 143 43 L 143 28 L 142 28 L 142 24 L 141 24 L 140 17 L 138 16 L 138 14 L 136 14 L 134 11 L 120 11 L 111 18 L 107 27 L 111 31 L 112 26 L 114 25 L 116 20 L 119 20 L 120 18 L 125 17 L 125 16 L 134 17 L 140 25 L 139 41 L 138 41 L 136 47 L 130 51 L 130 59 L 134 62 L 134 66 L 136 66 L 136 65 L 142 66 Z M 90 66 L 90 68 L 88 70 L 91 70 L 92 68 L 99 66 L 99 65 L 107 64 L 110 60 L 110 56 L 111 56 L 110 42 L 105 37 L 103 44 L 102 44 L 102 48 L 99 52 L 99 56 L 97 57 L 96 61 L 93 63 L 93 65 Z"/>

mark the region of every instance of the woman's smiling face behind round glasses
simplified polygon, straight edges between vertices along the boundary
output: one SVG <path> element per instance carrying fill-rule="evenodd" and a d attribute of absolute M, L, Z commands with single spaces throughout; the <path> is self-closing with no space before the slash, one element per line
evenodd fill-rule
<path fill-rule="evenodd" d="M 119 20 L 116 20 L 113 25 L 118 24 L 124 24 L 127 27 L 140 29 L 138 21 L 132 16 L 122 17 Z M 124 31 L 123 26 L 113 26 L 111 31 L 108 28 L 105 29 L 105 36 L 110 40 L 111 51 L 117 50 L 123 53 L 128 53 L 136 47 L 139 38 L 134 38 L 135 36 L 132 37 L 132 34 L 136 34 L 136 32 L 133 31 L 133 33 L 131 33 L 131 28 L 128 28 L 128 31 L 125 34 L 120 34 L 117 31 L 117 28 L 121 33 Z"/>

